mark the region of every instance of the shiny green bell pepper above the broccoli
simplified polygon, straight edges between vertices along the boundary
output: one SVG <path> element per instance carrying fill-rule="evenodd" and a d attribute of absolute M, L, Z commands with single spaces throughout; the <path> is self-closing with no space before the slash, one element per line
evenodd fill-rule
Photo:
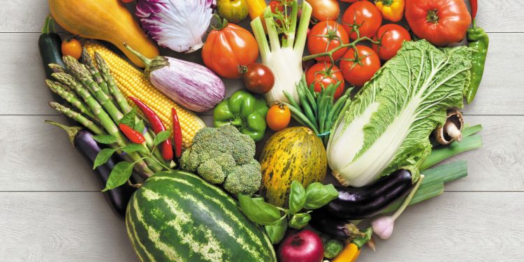
<path fill-rule="evenodd" d="M 214 127 L 232 124 L 240 133 L 259 142 L 265 133 L 267 114 L 268 105 L 263 98 L 241 89 L 214 108 Z"/>

